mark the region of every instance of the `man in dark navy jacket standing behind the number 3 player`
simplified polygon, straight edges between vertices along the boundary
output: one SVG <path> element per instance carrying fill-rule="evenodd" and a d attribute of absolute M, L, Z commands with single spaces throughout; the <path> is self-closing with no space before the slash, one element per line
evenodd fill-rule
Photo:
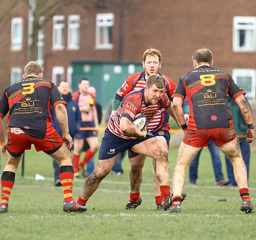
<path fill-rule="evenodd" d="M 70 93 L 70 84 L 68 81 L 61 81 L 58 85 L 58 90 L 62 94 L 63 99 L 67 103 L 67 113 L 68 113 L 68 129 L 69 134 L 73 138 L 74 134 L 80 127 L 81 123 L 81 113 L 76 101 L 72 99 L 72 95 Z M 50 109 L 50 113 L 52 115 L 52 126 L 56 129 L 57 133 L 62 136 L 62 131 L 60 125 L 57 121 L 55 111 L 53 107 Z M 60 167 L 55 159 L 52 159 L 53 167 L 54 167 L 54 186 L 61 186 L 60 182 Z"/>

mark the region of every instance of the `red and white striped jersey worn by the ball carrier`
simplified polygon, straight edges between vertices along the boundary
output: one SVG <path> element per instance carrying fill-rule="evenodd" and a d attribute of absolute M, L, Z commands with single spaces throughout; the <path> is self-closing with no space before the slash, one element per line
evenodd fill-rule
<path fill-rule="evenodd" d="M 111 133 L 125 139 L 136 139 L 135 137 L 128 137 L 122 133 L 120 129 L 121 117 L 126 117 L 131 122 L 133 122 L 136 114 L 142 113 L 147 117 L 146 127 L 148 129 L 148 124 L 150 123 L 150 120 L 153 119 L 153 117 L 156 115 L 156 113 L 158 113 L 160 109 L 166 109 L 170 107 L 171 101 L 166 93 L 163 94 L 162 98 L 157 104 L 147 105 L 144 99 L 144 91 L 144 88 L 140 90 L 134 90 L 124 97 L 120 106 L 116 110 L 116 113 L 112 114 L 108 121 L 107 127 Z"/>

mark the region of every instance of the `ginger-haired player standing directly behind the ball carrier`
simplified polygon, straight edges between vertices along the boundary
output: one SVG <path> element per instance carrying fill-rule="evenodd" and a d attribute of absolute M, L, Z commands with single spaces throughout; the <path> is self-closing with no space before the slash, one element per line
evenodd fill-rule
<path fill-rule="evenodd" d="M 120 105 L 122 99 L 131 91 L 142 89 L 146 85 L 146 79 L 152 74 L 159 74 L 160 76 L 163 76 L 166 78 L 166 86 L 165 86 L 165 93 L 167 94 L 168 98 L 172 96 L 172 93 L 174 92 L 176 88 L 176 84 L 165 75 L 161 74 L 159 72 L 161 65 L 162 65 L 162 54 L 154 49 L 150 48 L 147 49 L 143 56 L 142 56 L 142 66 L 144 68 L 144 71 L 140 71 L 138 73 L 134 73 L 127 77 L 127 79 L 124 81 L 120 89 L 116 92 L 115 98 L 113 100 L 112 104 L 112 112 L 114 112 Z M 186 120 L 188 120 L 188 113 L 189 113 L 189 107 L 188 102 L 184 101 L 183 104 L 184 109 L 184 117 Z M 171 115 L 175 121 L 177 121 L 175 115 L 172 113 Z M 157 139 L 164 145 L 166 149 L 169 147 L 170 143 L 170 126 L 169 126 L 169 114 L 165 111 L 165 109 L 160 109 L 158 113 L 151 119 L 151 121 L 147 125 L 147 130 L 152 133 L 154 136 L 157 137 Z M 133 153 L 131 151 L 128 151 L 129 161 L 130 161 L 130 200 L 128 201 L 128 204 L 126 205 L 126 209 L 134 209 L 141 203 L 140 198 L 140 185 L 142 183 L 142 168 L 144 166 L 144 162 L 146 159 L 145 155 L 138 155 L 137 153 Z M 156 167 L 156 160 L 152 159 L 152 164 L 154 166 L 154 169 Z M 162 198 L 161 198 L 161 188 L 164 188 L 163 186 L 160 186 L 158 179 L 156 178 L 156 173 L 153 170 L 153 184 L 155 189 L 155 200 L 156 200 L 156 209 L 160 210 L 162 209 Z M 162 189 L 164 190 L 164 189 Z M 170 189 L 166 189 L 170 191 Z M 164 201 L 163 201 L 164 202 Z"/>

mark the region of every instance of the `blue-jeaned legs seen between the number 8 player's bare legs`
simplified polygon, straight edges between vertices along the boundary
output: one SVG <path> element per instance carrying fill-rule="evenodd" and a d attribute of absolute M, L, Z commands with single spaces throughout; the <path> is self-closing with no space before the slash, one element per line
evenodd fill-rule
<path fill-rule="evenodd" d="M 222 165 L 220 161 L 220 151 L 218 147 L 216 147 L 214 141 L 210 139 L 208 143 L 208 149 L 210 151 L 212 157 L 212 166 L 214 170 L 216 184 L 218 186 L 226 186 L 228 185 L 228 180 L 225 180 L 222 173 Z M 196 185 L 196 180 L 198 178 L 198 161 L 202 149 L 198 152 L 196 157 L 192 160 L 189 167 L 189 184 Z"/>

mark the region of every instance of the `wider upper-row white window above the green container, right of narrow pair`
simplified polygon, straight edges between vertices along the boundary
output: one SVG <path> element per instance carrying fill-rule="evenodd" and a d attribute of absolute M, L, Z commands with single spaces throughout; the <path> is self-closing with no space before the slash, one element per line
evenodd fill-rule
<path fill-rule="evenodd" d="M 113 48 L 113 26 L 113 13 L 100 13 L 96 15 L 96 49 Z"/>

